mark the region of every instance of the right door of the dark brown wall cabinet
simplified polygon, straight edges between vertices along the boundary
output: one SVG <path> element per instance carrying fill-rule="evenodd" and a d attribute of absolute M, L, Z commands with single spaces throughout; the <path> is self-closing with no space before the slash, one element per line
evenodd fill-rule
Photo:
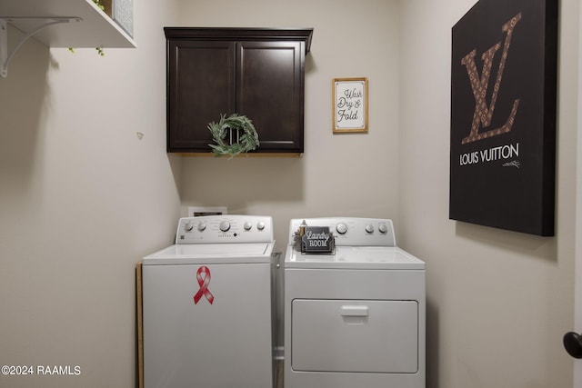
<path fill-rule="evenodd" d="M 305 44 L 239 42 L 236 112 L 253 120 L 258 153 L 303 153 Z"/>

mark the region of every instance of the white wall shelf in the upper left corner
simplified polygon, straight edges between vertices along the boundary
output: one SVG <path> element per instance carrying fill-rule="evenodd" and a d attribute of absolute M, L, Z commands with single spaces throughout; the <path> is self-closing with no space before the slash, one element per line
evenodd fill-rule
<path fill-rule="evenodd" d="M 35 19 L 69 17 L 80 19 L 49 25 L 34 38 L 49 47 L 135 47 L 134 39 L 105 15 L 92 0 L 2 0 L 0 19 L 28 33 Z M 25 19 L 30 18 L 30 19 Z"/>

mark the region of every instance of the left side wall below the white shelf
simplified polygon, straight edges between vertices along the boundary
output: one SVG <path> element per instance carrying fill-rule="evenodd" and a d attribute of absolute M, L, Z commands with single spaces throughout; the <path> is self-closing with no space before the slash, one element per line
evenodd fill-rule
<path fill-rule="evenodd" d="M 179 215 L 169 5 L 135 2 L 137 49 L 30 40 L 0 78 L 0 364 L 81 372 L 0 387 L 135 386 L 135 264 L 171 243 Z"/>

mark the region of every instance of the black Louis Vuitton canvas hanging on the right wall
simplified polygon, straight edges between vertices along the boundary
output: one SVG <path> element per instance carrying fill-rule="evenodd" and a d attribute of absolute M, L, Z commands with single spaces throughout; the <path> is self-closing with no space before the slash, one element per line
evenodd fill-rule
<path fill-rule="evenodd" d="M 453 220 L 554 235 L 557 0 L 481 0 L 452 29 Z"/>

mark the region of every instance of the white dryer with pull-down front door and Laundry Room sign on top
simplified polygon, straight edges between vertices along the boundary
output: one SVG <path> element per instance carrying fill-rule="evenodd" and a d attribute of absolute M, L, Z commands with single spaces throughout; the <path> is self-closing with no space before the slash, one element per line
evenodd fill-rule
<path fill-rule="evenodd" d="M 285 388 L 424 388 L 425 322 L 425 263 L 391 220 L 291 220 Z"/>

